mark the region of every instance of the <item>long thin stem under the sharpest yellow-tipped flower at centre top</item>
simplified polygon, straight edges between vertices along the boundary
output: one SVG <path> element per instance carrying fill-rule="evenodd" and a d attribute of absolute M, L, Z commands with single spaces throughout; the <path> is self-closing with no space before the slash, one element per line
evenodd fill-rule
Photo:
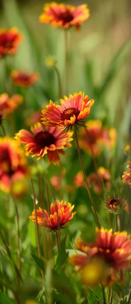
<path fill-rule="evenodd" d="M 81 168 L 82 168 L 82 171 L 83 171 L 83 174 L 84 174 L 84 178 L 85 178 L 85 184 L 86 184 L 87 192 L 88 192 L 88 195 L 89 195 L 89 198 L 90 198 L 90 202 L 91 202 L 91 205 L 92 205 L 92 208 L 93 208 L 93 212 L 94 212 L 94 215 L 95 215 L 97 226 L 100 229 L 100 222 L 99 222 L 99 219 L 97 217 L 95 205 L 94 205 L 94 202 L 93 202 L 93 198 L 92 198 L 92 195 L 91 195 L 91 192 L 90 192 L 90 188 L 89 188 L 89 185 L 88 185 L 88 182 L 87 182 L 87 178 L 86 178 L 85 169 L 84 169 L 83 162 L 82 162 L 81 151 L 80 151 L 80 147 L 79 147 L 79 142 L 78 142 L 78 136 L 77 136 L 76 129 L 75 129 L 75 137 L 76 137 L 76 144 L 77 144 L 77 150 L 78 150 L 78 155 L 79 155 L 79 159 L 80 159 L 80 164 L 81 164 Z"/>

